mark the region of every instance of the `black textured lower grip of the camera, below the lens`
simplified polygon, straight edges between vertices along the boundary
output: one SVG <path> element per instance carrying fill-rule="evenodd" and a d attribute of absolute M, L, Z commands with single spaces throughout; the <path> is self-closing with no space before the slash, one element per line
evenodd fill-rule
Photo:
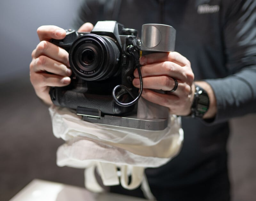
<path fill-rule="evenodd" d="M 115 103 L 111 95 L 97 95 L 81 93 L 72 90 L 63 90 L 61 87 L 52 87 L 50 96 L 53 104 L 76 109 L 77 107 L 98 109 L 105 114 L 122 114 L 132 111 L 134 106 L 123 107 Z"/>

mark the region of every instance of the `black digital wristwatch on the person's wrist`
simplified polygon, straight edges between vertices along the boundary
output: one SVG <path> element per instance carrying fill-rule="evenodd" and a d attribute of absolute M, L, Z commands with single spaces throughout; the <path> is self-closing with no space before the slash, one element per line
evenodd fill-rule
<path fill-rule="evenodd" d="M 210 104 L 209 96 L 203 88 L 199 87 L 198 85 L 195 85 L 195 86 L 196 86 L 196 90 L 195 90 L 193 104 L 191 106 L 190 116 L 192 118 L 202 119 L 204 114 L 209 109 L 209 104 Z"/>

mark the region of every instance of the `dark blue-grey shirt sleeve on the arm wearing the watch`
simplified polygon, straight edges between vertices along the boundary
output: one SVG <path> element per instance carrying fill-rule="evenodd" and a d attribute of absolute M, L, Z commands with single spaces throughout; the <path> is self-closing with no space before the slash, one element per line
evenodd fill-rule
<path fill-rule="evenodd" d="M 230 75 L 205 80 L 217 101 L 212 123 L 256 112 L 256 1 L 235 1 L 225 12 L 223 43 Z"/>

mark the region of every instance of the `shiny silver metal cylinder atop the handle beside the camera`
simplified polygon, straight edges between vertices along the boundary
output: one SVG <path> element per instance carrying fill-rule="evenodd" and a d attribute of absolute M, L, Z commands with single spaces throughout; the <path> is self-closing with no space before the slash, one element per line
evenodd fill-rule
<path fill-rule="evenodd" d="M 141 30 L 142 51 L 171 52 L 175 48 L 176 30 L 163 24 L 144 24 Z"/>

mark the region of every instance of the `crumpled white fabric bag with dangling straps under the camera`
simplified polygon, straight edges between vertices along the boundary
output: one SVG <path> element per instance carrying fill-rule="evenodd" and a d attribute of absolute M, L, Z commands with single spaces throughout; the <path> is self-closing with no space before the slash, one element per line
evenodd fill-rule
<path fill-rule="evenodd" d="M 57 165 L 85 168 L 85 187 L 94 192 L 103 191 L 95 171 L 105 186 L 135 189 L 146 181 L 144 168 L 164 165 L 183 142 L 181 119 L 175 115 L 164 130 L 146 131 L 86 122 L 68 108 L 52 106 L 49 112 L 53 134 L 66 141 L 57 150 Z"/>

